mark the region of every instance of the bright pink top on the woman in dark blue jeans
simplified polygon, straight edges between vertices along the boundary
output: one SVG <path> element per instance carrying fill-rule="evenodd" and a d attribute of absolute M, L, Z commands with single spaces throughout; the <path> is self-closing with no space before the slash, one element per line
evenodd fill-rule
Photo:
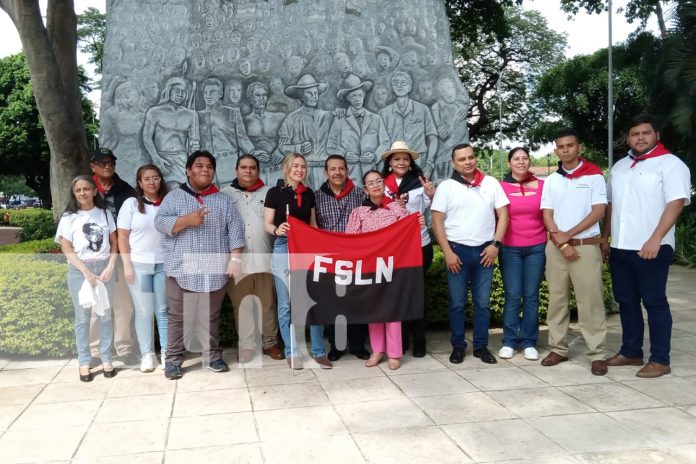
<path fill-rule="evenodd" d="M 501 182 L 500 185 L 510 200 L 510 223 L 503 245 L 522 247 L 546 243 L 546 228 L 540 209 L 544 181 L 538 180 L 536 188 L 525 186 L 524 196 L 518 183 Z"/>

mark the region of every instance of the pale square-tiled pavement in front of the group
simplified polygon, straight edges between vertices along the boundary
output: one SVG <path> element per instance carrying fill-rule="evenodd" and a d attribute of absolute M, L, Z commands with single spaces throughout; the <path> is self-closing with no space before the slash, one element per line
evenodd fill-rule
<path fill-rule="evenodd" d="M 348 356 L 331 371 L 265 358 L 216 374 L 191 359 L 176 382 L 158 369 L 83 384 L 75 360 L 0 359 L 0 462 L 693 463 L 696 270 L 673 268 L 669 295 L 673 373 L 653 380 L 592 376 L 579 339 L 556 367 L 470 353 L 454 366 L 445 332 L 393 372 Z M 612 316 L 610 350 L 620 330 Z"/>

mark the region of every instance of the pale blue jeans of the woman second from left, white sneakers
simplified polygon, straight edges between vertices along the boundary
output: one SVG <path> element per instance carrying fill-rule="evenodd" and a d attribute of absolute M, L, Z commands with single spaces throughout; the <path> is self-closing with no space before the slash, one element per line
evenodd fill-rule
<path fill-rule="evenodd" d="M 164 274 L 164 263 L 136 263 L 133 262 L 135 281 L 128 284 L 133 297 L 135 310 L 135 333 L 138 336 L 140 354 L 152 354 L 152 316 L 157 318 L 157 331 L 159 332 L 162 351 L 167 349 L 167 289 Z"/>

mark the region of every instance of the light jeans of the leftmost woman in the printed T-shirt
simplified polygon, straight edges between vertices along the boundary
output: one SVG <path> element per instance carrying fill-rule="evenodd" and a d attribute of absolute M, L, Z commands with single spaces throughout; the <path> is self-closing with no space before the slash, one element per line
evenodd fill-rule
<path fill-rule="evenodd" d="M 84 265 L 92 271 L 96 276 L 104 271 L 108 259 L 100 261 L 84 261 Z M 77 360 L 80 366 L 88 366 L 91 354 L 89 350 L 89 323 L 92 317 L 90 308 L 80 306 L 80 288 L 85 281 L 82 272 L 78 271 L 72 264 L 68 264 L 68 290 L 72 298 L 73 307 L 75 308 L 75 345 L 77 347 Z M 109 302 L 113 303 L 113 287 L 114 280 L 111 278 L 108 282 L 104 282 L 106 291 L 109 294 Z M 111 347 L 114 340 L 114 321 L 112 317 L 112 309 L 109 309 L 104 316 L 97 316 L 99 325 L 99 357 L 102 362 L 111 362 Z"/>

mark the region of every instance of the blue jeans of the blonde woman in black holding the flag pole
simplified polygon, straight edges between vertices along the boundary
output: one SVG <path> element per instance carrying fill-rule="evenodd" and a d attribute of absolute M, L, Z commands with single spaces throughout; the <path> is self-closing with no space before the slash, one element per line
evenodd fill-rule
<path fill-rule="evenodd" d="M 273 244 L 273 256 L 271 258 L 271 270 L 275 281 L 276 294 L 278 295 L 278 326 L 280 335 L 285 343 L 285 357 L 298 357 L 297 342 L 290 333 L 290 292 L 288 291 L 288 240 L 285 237 L 276 238 Z M 304 322 L 304 321 L 300 321 Z M 326 356 L 324 349 L 324 326 L 312 325 L 309 327 L 309 335 L 312 340 L 312 355 L 315 358 Z M 291 343 L 292 342 L 292 343 Z M 294 347 L 291 351 L 290 347 Z"/>

